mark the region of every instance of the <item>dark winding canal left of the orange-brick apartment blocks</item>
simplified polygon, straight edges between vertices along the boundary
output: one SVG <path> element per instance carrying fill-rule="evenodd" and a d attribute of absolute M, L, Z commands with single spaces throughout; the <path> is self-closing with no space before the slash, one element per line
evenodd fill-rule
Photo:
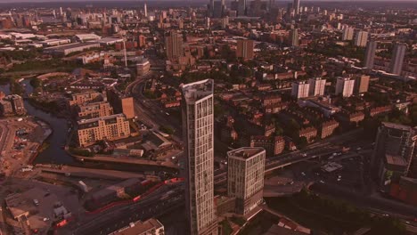
<path fill-rule="evenodd" d="M 33 93 L 33 87 L 29 84 L 29 79 L 26 79 L 21 82 L 22 85 L 25 85 L 26 92 L 28 94 Z M 5 94 L 10 94 L 9 85 L 0 85 L 0 91 Z M 54 164 L 66 164 L 73 162 L 73 158 L 62 149 L 67 142 L 68 134 L 68 122 L 64 118 L 56 118 L 53 115 L 46 113 L 41 109 L 37 109 L 32 106 L 29 101 L 25 101 L 25 108 L 28 110 L 30 116 L 39 118 L 46 123 L 48 123 L 53 133 L 46 140 L 48 147 L 39 153 L 34 163 L 54 163 Z"/>

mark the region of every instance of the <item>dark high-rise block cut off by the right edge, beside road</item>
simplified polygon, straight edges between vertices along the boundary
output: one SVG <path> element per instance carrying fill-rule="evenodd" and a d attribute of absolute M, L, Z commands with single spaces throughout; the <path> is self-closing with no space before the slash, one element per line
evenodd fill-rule
<path fill-rule="evenodd" d="M 396 166 L 396 171 L 400 173 L 398 176 L 417 175 L 417 165 L 415 165 L 417 157 L 413 154 L 415 142 L 417 142 L 415 127 L 382 123 L 376 137 L 371 162 L 373 173 L 378 175 L 382 185 L 391 182 L 392 168 Z"/>

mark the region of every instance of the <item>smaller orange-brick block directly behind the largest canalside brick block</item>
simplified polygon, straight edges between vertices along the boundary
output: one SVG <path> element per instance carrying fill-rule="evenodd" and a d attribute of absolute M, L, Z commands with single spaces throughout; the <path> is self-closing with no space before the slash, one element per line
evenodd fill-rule
<path fill-rule="evenodd" d="M 78 119 L 102 118 L 113 114 L 113 108 L 106 101 L 79 104 Z"/>

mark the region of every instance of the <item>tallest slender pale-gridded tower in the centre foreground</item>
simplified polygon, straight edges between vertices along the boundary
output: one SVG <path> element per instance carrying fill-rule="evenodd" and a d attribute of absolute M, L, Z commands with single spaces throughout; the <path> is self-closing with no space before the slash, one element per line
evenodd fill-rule
<path fill-rule="evenodd" d="M 192 235 L 217 235 L 214 205 L 214 81 L 181 85 L 186 211 Z"/>

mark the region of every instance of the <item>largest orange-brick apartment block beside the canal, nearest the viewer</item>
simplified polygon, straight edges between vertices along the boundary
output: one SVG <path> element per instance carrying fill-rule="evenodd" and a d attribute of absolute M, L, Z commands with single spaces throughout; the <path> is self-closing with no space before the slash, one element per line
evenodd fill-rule
<path fill-rule="evenodd" d="M 78 121 L 78 144 L 86 147 L 102 140 L 118 140 L 130 136 L 129 122 L 124 114 Z"/>

